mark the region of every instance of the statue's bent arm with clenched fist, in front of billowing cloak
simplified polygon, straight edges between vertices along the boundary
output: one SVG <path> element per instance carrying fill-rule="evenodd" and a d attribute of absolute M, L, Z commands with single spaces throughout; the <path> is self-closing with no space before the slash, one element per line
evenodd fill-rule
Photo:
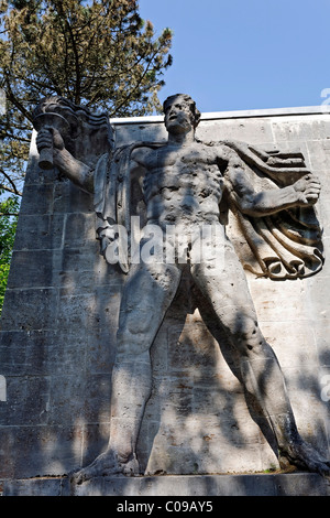
<path fill-rule="evenodd" d="M 282 188 L 256 192 L 239 159 L 230 160 L 224 173 L 227 188 L 238 209 L 249 216 L 268 216 L 285 208 L 314 205 L 320 183 L 311 173 Z"/>

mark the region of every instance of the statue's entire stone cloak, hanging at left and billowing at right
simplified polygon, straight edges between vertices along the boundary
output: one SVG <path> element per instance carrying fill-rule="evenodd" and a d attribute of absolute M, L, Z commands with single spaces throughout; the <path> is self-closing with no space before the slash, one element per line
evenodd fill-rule
<path fill-rule="evenodd" d="M 221 141 L 244 162 L 256 192 L 274 190 L 293 184 L 308 171 L 300 152 L 265 152 L 238 141 Z M 139 147 L 158 149 L 166 143 L 135 142 L 103 154 L 95 172 L 95 211 L 97 234 L 101 252 L 107 259 L 107 248 L 118 240 L 119 257 L 124 273 L 130 270 L 130 247 L 124 247 L 118 230 L 123 227 L 130 241 L 131 215 L 131 153 Z M 258 277 L 271 279 L 297 279 L 318 272 L 323 265 L 321 226 L 314 205 L 279 211 L 271 216 L 248 216 L 233 201 L 223 197 L 220 212 L 230 209 L 235 222 L 232 240 L 243 267 Z M 231 238 L 231 236 L 229 236 Z"/>

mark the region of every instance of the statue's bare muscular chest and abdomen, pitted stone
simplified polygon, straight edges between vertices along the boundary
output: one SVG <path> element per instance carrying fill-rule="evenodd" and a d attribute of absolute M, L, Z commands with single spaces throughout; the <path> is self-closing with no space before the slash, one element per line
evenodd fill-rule
<path fill-rule="evenodd" d="M 219 222 L 223 177 L 219 150 L 199 142 L 136 150 L 144 168 L 143 194 L 148 223 L 165 225 Z"/>

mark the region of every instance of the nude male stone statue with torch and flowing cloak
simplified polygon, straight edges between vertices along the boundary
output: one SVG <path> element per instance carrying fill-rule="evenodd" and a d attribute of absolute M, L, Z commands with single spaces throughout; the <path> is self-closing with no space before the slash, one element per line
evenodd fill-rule
<path fill-rule="evenodd" d="M 62 98 L 45 99 L 35 117 L 42 112 L 69 119 L 75 139 L 65 137 L 64 142 L 58 129 L 38 125 L 38 150 L 53 148 L 61 173 L 95 196 L 101 251 L 109 262 L 117 257 L 128 276 L 112 374 L 109 445 L 74 474 L 74 481 L 140 474 L 136 441 L 152 388 L 150 348 L 187 269 L 239 353 L 244 388 L 271 423 L 279 464 L 329 475 L 330 463 L 298 433 L 280 367 L 258 327 L 242 266 L 275 279 L 307 277 L 322 267 L 314 211 L 320 183 L 306 169 L 304 157 L 265 153 L 242 142 L 196 140 L 200 114 L 195 101 L 182 94 L 164 102 L 167 142 L 134 142 L 116 150 L 103 116 L 90 121 L 87 110 Z M 132 207 L 132 190 L 141 194 L 143 208 Z M 250 257 L 242 247 L 244 257 L 239 258 L 226 235 L 229 208 Z M 132 215 L 145 217 L 138 248 L 132 241 Z M 143 260 L 148 231 L 158 240 Z M 180 252 L 175 251 L 175 239 L 183 245 Z M 164 252 L 165 242 L 170 253 L 168 248 Z"/>

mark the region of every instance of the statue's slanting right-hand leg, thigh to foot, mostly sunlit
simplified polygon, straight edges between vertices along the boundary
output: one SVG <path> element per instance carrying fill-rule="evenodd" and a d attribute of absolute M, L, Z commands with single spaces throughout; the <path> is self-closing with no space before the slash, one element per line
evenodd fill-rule
<path fill-rule="evenodd" d="M 282 369 L 258 327 L 246 278 L 233 248 L 226 245 L 224 262 L 221 260 L 219 267 L 195 265 L 191 273 L 239 353 L 245 390 L 256 398 L 271 422 L 279 462 L 284 457 L 301 468 L 329 475 L 328 461 L 298 433 Z"/>

